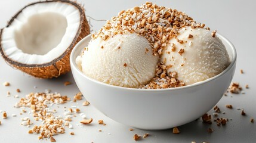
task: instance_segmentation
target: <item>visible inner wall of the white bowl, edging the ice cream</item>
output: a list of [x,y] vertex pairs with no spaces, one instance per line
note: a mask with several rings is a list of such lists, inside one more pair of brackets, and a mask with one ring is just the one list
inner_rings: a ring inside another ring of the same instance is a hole
[[235,46],[224,36],[220,35],[217,33],[218,38],[221,39],[221,41],[223,42],[223,44],[226,46],[227,52],[229,53],[229,58],[230,58],[230,65],[229,67],[227,67],[226,70],[224,70],[223,72],[221,72],[220,74],[211,77],[209,79],[206,79],[202,82],[197,82],[194,83],[192,85],[186,85],[186,86],[182,86],[182,87],[178,87],[178,88],[168,88],[168,89],[136,89],[136,88],[124,88],[124,87],[120,87],[120,86],[114,86],[114,85],[109,85],[107,83],[103,83],[103,82],[98,82],[95,79],[92,79],[91,77],[86,76],[84,73],[82,73],[82,71],[78,68],[78,66],[76,65],[76,57],[78,57],[78,55],[81,55],[82,50],[88,45],[88,43],[91,41],[91,34],[86,36],[84,39],[82,39],[80,42],[78,42],[78,44],[75,46],[75,48],[73,48],[73,51],[71,52],[70,55],[70,64],[75,67],[73,70],[76,70],[76,73],[81,74],[83,77],[92,80],[92,82],[97,82],[98,84],[103,84],[106,86],[110,86],[112,88],[121,88],[121,89],[127,89],[127,90],[137,90],[137,91],[149,91],[149,92],[154,92],[154,91],[166,91],[166,90],[180,90],[180,89],[184,89],[184,88],[191,88],[192,86],[199,86],[203,83],[209,82],[215,78],[219,78],[221,75],[223,75],[224,73],[226,73],[227,71],[229,71],[233,65],[236,63],[236,49]]

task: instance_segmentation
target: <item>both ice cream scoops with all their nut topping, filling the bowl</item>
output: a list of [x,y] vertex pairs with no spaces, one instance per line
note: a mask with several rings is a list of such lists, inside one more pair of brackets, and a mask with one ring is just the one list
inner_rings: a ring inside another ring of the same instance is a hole
[[204,27],[185,13],[146,2],[108,20],[76,63],[87,76],[110,85],[190,85],[229,66],[225,46]]

